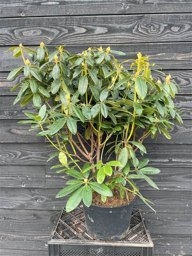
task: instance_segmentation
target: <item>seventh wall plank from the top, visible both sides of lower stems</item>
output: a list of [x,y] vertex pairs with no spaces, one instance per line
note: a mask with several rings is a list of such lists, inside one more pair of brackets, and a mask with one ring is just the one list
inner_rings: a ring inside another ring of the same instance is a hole
[[[145,144],[150,160],[150,166],[180,166],[191,165],[190,144]],[[70,149],[68,150],[71,152]],[[56,152],[52,147],[42,143],[2,143],[0,164],[2,165],[46,165],[47,159]],[[138,156],[141,159],[140,156]],[[106,158],[103,161],[107,161]],[[50,160],[48,165],[58,164],[56,158]]]

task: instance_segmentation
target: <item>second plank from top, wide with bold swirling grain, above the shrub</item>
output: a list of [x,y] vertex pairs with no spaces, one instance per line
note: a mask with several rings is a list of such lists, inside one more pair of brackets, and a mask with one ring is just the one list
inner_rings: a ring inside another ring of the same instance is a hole
[[1,19],[0,45],[189,42],[191,14]]

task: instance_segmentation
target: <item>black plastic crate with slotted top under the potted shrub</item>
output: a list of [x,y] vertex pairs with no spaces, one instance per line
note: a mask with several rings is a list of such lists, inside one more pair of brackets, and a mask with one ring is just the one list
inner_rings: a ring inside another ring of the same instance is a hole
[[152,256],[153,242],[139,209],[132,210],[127,236],[115,242],[95,240],[85,225],[83,208],[61,211],[48,241],[49,256]]

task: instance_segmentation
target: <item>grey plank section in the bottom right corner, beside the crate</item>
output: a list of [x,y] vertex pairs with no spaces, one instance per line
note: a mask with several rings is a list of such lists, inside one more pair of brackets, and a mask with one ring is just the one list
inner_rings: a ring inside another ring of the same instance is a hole
[[191,256],[191,235],[153,234],[154,256]]

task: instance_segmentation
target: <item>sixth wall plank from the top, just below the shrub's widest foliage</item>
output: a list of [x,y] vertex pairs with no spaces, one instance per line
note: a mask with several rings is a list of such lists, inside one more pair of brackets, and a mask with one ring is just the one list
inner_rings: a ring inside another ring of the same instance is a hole
[[[1,142],[14,142],[14,143],[45,143],[46,139],[43,136],[36,136],[39,130],[31,130],[30,124],[19,124],[18,120],[3,120],[0,123]],[[184,119],[183,124],[179,125],[173,121],[175,126],[170,131],[171,140],[168,140],[163,134],[159,134],[157,143],[163,144],[189,144],[192,141],[192,122],[191,120]],[[84,132],[84,130],[82,130]],[[142,133],[139,133],[142,136]],[[145,143],[155,143],[149,136]]]

